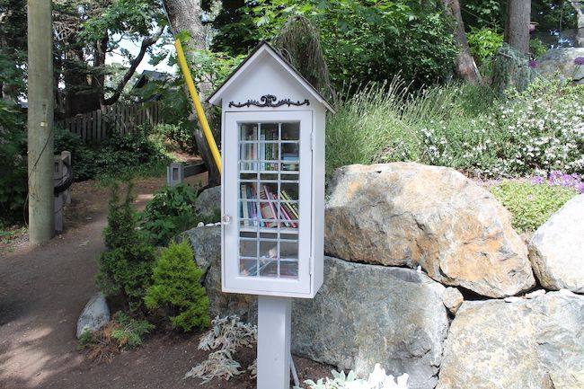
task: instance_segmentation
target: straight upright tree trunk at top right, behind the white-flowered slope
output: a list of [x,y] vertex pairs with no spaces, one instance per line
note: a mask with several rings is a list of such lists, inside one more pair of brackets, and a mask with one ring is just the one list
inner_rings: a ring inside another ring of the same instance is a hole
[[531,0],[509,0],[505,22],[505,42],[523,54],[529,53]]

